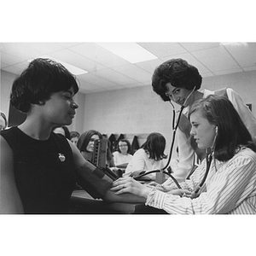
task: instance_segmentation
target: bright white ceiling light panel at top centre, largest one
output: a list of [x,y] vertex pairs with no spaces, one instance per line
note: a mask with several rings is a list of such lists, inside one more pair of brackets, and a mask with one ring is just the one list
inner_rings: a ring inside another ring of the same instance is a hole
[[157,56],[150,53],[147,49],[136,43],[97,43],[104,49],[108,49],[115,55],[129,61],[137,63],[158,59]]

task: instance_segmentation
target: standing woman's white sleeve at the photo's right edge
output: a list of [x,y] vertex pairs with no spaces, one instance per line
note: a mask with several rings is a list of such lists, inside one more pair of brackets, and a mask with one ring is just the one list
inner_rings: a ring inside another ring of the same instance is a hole
[[241,96],[239,96],[235,90],[228,88],[227,95],[230,102],[232,102],[233,106],[236,108],[236,111],[239,113],[241,120],[247,126],[251,136],[256,141],[256,119],[253,116],[252,111],[247,108],[247,105],[242,101]]

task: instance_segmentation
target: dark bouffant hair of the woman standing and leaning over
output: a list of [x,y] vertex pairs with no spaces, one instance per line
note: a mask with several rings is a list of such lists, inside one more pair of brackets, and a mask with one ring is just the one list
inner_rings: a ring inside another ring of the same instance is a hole
[[156,67],[152,76],[152,87],[165,102],[170,99],[166,96],[166,84],[171,83],[177,88],[187,90],[199,90],[201,88],[201,74],[198,69],[189,65],[183,59],[172,59],[165,61]]

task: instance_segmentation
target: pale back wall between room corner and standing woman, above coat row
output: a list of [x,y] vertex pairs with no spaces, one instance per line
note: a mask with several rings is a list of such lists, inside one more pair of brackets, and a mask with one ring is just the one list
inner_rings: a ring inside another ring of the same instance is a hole
[[171,104],[163,102],[150,85],[89,94],[84,107],[84,131],[95,129],[116,137],[122,133],[130,141],[137,135],[140,144],[154,131],[170,139]]

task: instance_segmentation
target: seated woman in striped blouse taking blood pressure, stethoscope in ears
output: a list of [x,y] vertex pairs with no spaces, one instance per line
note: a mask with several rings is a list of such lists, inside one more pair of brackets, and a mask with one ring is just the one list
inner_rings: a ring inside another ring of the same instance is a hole
[[255,214],[256,144],[232,103],[225,97],[207,96],[189,109],[191,135],[207,157],[189,180],[183,197],[171,195],[177,185],[146,186],[132,177],[115,181],[117,195],[143,196],[146,205],[172,214]]

